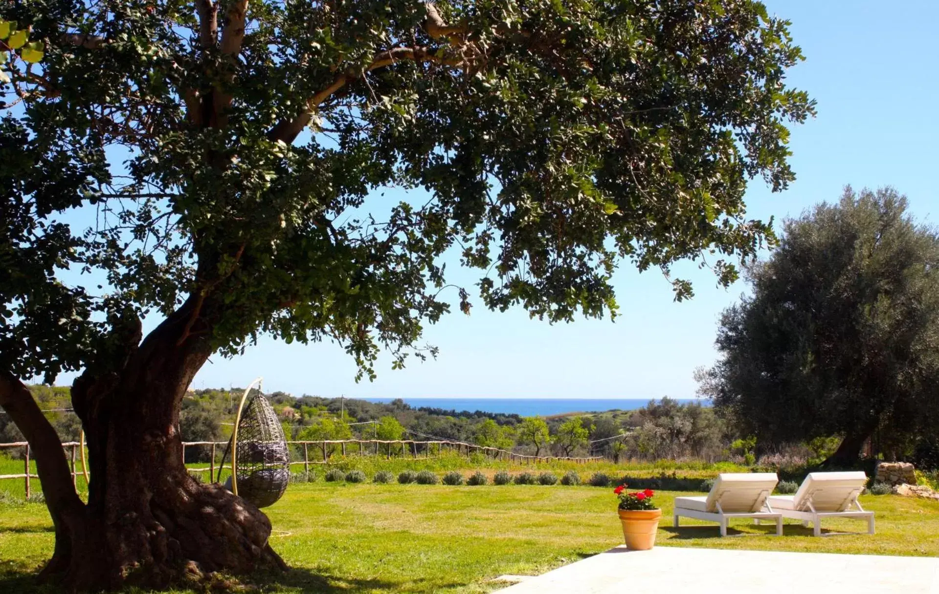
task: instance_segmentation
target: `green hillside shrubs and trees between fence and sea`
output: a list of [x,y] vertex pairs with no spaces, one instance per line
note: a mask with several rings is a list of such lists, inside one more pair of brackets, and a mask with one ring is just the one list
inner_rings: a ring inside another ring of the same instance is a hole
[[[69,412],[69,388],[30,387],[63,441],[78,440],[80,423]],[[224,441],[231,434],[243,390],[190,390],[183,399],[179,431],[185,441]],[[403,400],[388,404],[323,398],[285,392],[266,394],[290,440],[434,439],[454,440],[540,456],[606,456],[654,461],[694,458],[743,462],[746,447],[714,409],[670,398],[638,410],[609,410],[550,418],[522,418],[485,411],[412,408]],[[22,434],[0,415],[0,443]],[[737,442],[737,443],[734,443]],[[334,451],[329,452],[330,454]],[[187,462],[208,460],[208,449],[187,449]]]

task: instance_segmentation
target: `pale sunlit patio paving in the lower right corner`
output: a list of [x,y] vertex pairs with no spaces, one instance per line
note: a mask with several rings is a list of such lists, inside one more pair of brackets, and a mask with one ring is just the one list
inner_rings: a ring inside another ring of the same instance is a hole
[[939,558],[618,546],[500,591],[939,594]]

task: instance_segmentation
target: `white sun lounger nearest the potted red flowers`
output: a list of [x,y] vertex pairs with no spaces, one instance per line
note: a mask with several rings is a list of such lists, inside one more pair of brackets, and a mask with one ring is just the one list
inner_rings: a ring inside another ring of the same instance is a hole
[[718,475],[707,496],[675,497],[674,524],[678,526],[679,516],[708,520],[720,525],[720,536],[727,536],[732,518],[754,518],[757,523],[774,520],[776,534],[782,536],[782,514],[767,502],[778,480],[775,472]]

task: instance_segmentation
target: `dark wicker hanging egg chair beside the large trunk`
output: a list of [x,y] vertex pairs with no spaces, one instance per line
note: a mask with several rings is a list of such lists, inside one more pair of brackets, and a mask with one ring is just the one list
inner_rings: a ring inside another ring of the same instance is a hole
[[[245,405],[255,383],[257,393]],[[273,505],[284,495],[290,481],[290,452],[281,421],[261,393],[260,378],[254,380],[241,397],[229,449],[232,451],[232,475],[225,482],[226,489],[257,508]]]

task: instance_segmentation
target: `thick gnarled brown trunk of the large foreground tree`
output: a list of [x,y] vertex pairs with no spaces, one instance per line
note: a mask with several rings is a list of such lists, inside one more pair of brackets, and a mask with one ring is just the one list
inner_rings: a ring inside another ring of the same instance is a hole
[[72,403],[91,468],[87,504],[75,494],[52,425],[19,380],[0,376],[0,404],[35,452],[55,525],[42,577],[88,590],[285,568],[269,546],[267,516],[220,485],[192,480],[182,462],[180,403],[211,354],[207,340],[190,336],[194,307],[190,298],[143,343],[135,321],[123,348],[108,354],[116,365],[89,368],[75,380]]

